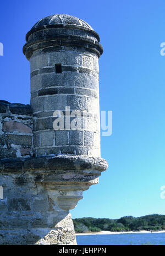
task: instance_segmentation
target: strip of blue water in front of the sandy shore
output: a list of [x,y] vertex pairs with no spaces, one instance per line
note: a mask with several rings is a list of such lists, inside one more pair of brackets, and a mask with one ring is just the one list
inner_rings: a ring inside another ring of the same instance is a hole
[[76,236],[78,245],[165,244],[165,233]]

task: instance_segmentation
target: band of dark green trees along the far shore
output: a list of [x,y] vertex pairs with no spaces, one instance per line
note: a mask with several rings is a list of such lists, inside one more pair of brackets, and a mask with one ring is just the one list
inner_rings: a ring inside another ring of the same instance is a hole
[[95,219],[86,217],[73,219],[76,233],[85,233],[89,231],[98,232],[113,231],[140,231],[140,230],[165,230],[165,215],[152,214],[142,217],[124,216],[120,219]]

